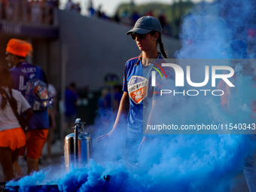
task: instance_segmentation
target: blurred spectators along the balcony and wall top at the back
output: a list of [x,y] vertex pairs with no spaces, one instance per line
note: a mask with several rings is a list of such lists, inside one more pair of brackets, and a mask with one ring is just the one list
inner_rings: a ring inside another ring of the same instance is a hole
[[[79,2],[68,0],[65,5],[67,11],[74,11],[81,14],[81,5]],[[0,0],[0,20],[11,20],[14,22],[33,23],[33,24],[53,24],[53,9],[59,8],[59,0]],[[166,15],[160,11],[154,15],[153,11],[148,11],[143,15],[157,17],[163,27],[163,34],[171,35],[169,24],[166,22]],[[111,20],[125,26],[133,26],[139,17],[143,16],[137,11],[130,14],[129,11],[123,11],[109,17],[102,11],[102,5],[98,8],[93,7],[93,1],[90,0],[87,7],[88,17],[98,17],[104,20]]]

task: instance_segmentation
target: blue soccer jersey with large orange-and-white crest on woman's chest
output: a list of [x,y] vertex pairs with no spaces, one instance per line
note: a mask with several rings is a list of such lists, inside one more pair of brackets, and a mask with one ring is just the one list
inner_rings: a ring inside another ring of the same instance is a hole
[[[162,59],[160,56],[158,58]],[[127,122],[127,136],[130,138],[143,136],[143,121],[147,123],[152,100],[157,98],[161,87],[159,84],[155,87],[151,85],[151,72],[154,68],[159,69],[160,63],[151,63],[143,67],[141,61],[136,65],[138,59],[139,56],[126,62],[123,75],[123,91],[129,94],[130,99]]]

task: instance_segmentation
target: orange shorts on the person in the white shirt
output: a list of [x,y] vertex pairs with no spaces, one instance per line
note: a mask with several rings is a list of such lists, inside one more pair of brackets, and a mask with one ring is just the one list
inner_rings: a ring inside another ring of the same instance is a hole
[[20,127],[0,131],[0,147],[11,148],[11,151],[15,151],[24,145],[26,145],[26,137]]

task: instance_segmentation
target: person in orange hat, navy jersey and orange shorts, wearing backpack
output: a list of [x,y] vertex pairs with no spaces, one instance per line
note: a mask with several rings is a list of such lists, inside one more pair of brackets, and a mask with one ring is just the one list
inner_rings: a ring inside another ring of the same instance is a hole
[[[6,47],[6,60],[8,61],[8,66],[11,67],[10,72],[14,81],[14,89],[20,90],[23,96],[31,93],[31,90],[27,90],[29,87],[29,82],[32,80],[37,80],[39,84],[47,84],[47,78],[44,71],[38,66],[34,66],[29,62],[26,62],[26,56],[32,55],[32,45],[27,41],[23,41],[16,38],[11,38],[8,41]],[[39,93],[34,93],[35,99],[39,96],[47,96],[47,89],[40,90]],[[38,89],[39,87],[35,87]],[[29,99],[29,98],[26,98]],[[32,105],[29,99],[29,104]],[[47,105],[41,108],[41,100],[37,100],[40,106],[36,105],[33,109],[33,116],[29,122],[28,131],[26,132],[26,148],[21,150],[20,155],[25,154],[27,149],[26,160],[28,165],[28,173],[33,171],[38,171],[38,161],[41,157],[41,151],[44,147],[44,143],[47,141],[47,133],[49,129],[49,117],[47,114]]]

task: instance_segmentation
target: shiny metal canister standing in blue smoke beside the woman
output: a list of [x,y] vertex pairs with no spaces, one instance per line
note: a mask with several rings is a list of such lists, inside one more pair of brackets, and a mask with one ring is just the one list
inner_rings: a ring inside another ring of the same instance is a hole
[[67,171],[70,170],[71,164],[75,167],[83,166],[93,157],[92,138],[84,132],[84,124],[80,118],[76,119],[75,126],[72,127],[75,132],[65,137],[64,156]]

